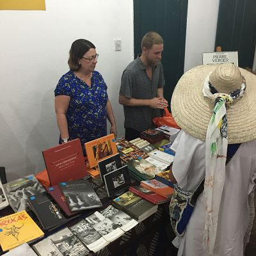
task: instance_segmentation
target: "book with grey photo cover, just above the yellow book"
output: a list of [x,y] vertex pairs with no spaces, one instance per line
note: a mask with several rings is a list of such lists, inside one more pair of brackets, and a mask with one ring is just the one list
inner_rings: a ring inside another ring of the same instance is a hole
[[3,184],[3,188],[14,212],[29,211],[29,197],[45,191],[33,174]]

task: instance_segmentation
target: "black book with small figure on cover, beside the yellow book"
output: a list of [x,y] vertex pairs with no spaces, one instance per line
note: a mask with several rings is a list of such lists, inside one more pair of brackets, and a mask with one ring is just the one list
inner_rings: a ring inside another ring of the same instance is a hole
[[56,228],[68,221],[61,212],[59,205],[46,192],[31,196],[29,205],[40,220],[44,230]]

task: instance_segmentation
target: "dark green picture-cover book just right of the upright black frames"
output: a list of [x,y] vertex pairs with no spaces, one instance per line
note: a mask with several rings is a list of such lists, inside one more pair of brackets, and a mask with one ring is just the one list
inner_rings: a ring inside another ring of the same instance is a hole
[[161,172],[159,168],[142,158],[129,161],[127,166],[129,172],[136,175],[139,180],[153,179],[157,173]]

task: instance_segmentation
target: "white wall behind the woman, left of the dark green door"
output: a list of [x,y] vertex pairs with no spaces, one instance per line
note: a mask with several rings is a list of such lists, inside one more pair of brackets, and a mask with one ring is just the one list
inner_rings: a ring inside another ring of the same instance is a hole
[[[42,150],[58,144],[54,88],[68,71],[70,45],[91,40],[108,84],[118,136],[124,113],[120,77],[133,60],[132,0],[46,0],[46,11],[0,11],[0,166],[8,180],[45,168]],[[114,50],[122,39],[122,51]]]

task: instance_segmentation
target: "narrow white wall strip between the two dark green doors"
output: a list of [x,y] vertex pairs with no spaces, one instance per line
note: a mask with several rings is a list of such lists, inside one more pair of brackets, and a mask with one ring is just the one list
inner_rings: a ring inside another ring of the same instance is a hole
[[184,72],[202,65],[202,52],[214,52],[220,0],[189,0]]

